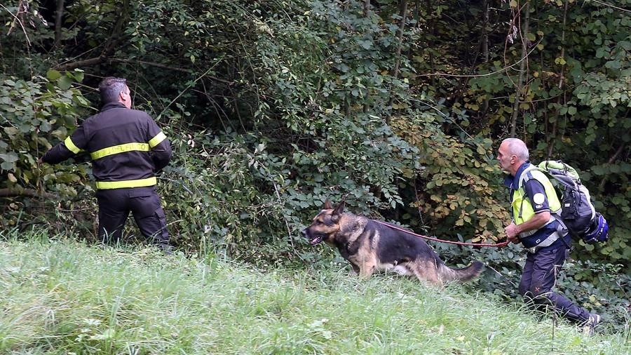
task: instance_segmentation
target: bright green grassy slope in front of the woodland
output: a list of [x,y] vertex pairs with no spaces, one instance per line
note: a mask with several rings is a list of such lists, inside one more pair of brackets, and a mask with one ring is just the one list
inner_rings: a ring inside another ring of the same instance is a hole
[[[0,241],[0,354],[629,354],[482,294],[344,270]],[[519,304],[515,304],[519,307]]]

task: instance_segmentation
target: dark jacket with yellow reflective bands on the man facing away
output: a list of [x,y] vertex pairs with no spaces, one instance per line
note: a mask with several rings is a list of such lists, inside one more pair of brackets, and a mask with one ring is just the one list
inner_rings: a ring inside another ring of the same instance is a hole
[[90,116],[72,135],[42,157],[60,163],[81,152],[93,161],[97,189],[120,189],[156,185],[158,170],[171,159],[168,139],[151,117],[110,102]]

